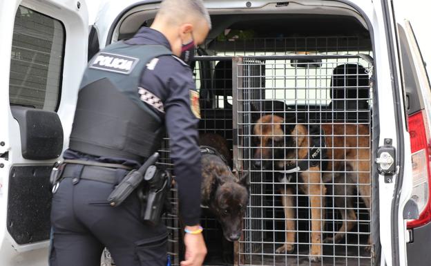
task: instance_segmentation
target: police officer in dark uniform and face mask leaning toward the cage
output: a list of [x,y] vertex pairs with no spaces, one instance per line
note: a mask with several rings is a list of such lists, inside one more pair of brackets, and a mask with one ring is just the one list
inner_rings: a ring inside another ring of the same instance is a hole
[[211,28],[202,0],[164,0],[151,28],[95,55],[84,73],[69,149],[55,185],[52,266],[100,265],[107,247],[118,266],[166,265],[166,228],[140,218],[133,192],[111,207],[108,196],[130,169],[170,137],[185,260],[202,265],[198,93],[189,67]]

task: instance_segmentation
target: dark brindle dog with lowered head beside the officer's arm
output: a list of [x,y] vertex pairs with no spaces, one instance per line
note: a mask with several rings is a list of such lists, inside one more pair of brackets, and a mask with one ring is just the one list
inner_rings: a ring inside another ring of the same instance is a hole
[[222,226],[224,238],[233,242],[240,238],[242,218],[249,200],[247,174],[238,178],[229,167],[231,155],[224,137],[206,133],[200,135],[202,153],[201,203]]

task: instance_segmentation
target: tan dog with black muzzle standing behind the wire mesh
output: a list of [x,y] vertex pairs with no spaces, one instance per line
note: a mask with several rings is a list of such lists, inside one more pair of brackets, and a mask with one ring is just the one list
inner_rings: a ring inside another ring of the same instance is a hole
[[[290,120],[289,120],[290,121]],[[325,238],[325,243],[340,242],[347,231],[354,227],[356,214],[353,211],[354,188],[357,187],[367,208],[370,208],[370,129],[357,124],[322,124],[324,132],[327,164],[309,164],[308,169],[298,173],[298,189],[309,197],[311,208],[311,247],[309,259],[320,261],[322,255],[323,217],[325,213],[326,188],[323,182],[334,182],[334,205],[340,209],[343,225],[335,236]],[[308,127],[303,124],[285,123],[277,115],[264,115],[253,128],[258,143],[253,160],[255,167],[283,171],[298,160],[309,160],[312,140]],[[323,152],[323,151],[320,151]],[[272,163],[274,162],[274,167]],[[323,171],[323,173],[322,173]],[[345,173],[341,173],[345,171]],[[336,185],[337,183],[341,185]],[[280,189],[285,212],[285,244],[277,253],[291,253],[295,243],[294,187],[283,186]],[[343,197],[344,196],[344,197]],[[345,209],[344,209],[345,208]],[[370,242],[370,239],[369,239]]]

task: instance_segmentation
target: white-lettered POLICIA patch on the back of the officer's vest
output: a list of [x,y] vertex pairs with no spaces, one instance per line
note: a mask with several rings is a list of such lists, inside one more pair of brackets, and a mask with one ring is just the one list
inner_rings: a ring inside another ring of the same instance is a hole
[[111,53],[99,53],[93,62],[91,62],[90,68],[129,75],[138,61],[139,59],[135,57],[126,57],[125,55],[115,55]]

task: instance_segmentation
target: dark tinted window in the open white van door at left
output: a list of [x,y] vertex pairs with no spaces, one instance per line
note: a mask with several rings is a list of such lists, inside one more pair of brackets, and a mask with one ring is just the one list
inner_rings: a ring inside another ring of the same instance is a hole
[[10,61],[11,105],[55,111],[61,91],[64,25],[19,6]]

